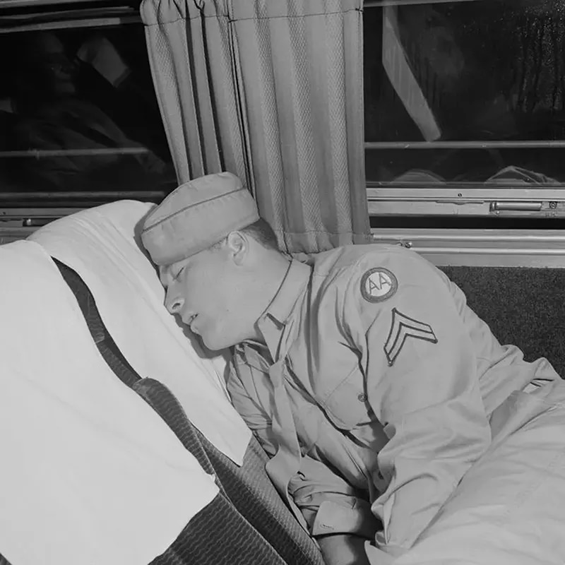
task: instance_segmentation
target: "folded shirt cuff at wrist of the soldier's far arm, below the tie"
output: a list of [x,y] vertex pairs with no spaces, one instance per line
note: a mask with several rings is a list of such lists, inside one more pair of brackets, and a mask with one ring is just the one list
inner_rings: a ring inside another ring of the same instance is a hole
[[350,506],[331,500],[323,501],[312,525],[312,536],[354,534],[374,540],[381,522],[371,512],[369,503],[352,499]]

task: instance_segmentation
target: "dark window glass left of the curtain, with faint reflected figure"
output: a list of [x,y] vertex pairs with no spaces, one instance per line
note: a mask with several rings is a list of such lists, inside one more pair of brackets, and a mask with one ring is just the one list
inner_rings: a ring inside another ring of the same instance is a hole
[[22,29],[0,35],[0,196],[174,188],[141,22]]

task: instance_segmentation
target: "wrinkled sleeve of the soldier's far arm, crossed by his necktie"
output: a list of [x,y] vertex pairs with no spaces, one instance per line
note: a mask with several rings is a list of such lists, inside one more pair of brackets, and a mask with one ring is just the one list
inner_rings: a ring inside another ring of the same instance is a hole
[[[273,457],[277,443],[271,429],[266,371],[243,359],[233,360],[227,389],[237,412]],[[320,458],[302,453],[299,471],[288,490],[313,537],[347,533],[374,539],[380,527],[369,502]]]

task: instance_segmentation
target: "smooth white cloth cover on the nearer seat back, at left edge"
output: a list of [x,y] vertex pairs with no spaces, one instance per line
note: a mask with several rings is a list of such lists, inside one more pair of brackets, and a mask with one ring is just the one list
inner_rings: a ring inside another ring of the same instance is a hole
[[107,367],[39,244],[0,246],[0,270],[2,554],[148,563],[212,501],[213,477]]

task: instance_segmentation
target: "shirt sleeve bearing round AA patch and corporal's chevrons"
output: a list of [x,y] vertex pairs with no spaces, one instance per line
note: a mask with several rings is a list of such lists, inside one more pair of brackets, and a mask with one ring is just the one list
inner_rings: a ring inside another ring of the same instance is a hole
[[[477,359],[441,274],[409,252],[364,258],[348,278],[344,331],[388,443],[374,481],[376,541],[408,549],[489,446]],[[386,487],[383,489],[383,487]]]

